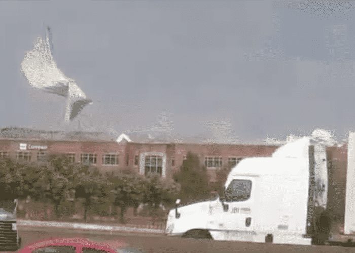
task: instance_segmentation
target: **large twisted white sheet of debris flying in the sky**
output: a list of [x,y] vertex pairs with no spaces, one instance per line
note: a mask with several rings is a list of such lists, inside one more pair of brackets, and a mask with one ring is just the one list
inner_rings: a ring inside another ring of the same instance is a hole
[[44,92],[58,94],[66,98],[65,121],[74,119],[92,101],[86,98],[75,80],[66,77],[58,69],[52,56],[52,38],[49,27],[46,37],[35,41],[33,49],[25,53],[21,69],[29,83]]

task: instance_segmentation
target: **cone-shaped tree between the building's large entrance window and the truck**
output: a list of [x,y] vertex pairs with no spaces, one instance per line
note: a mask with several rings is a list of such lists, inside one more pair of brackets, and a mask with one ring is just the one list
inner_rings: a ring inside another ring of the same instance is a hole
[[196,154],[188,152],[180,171],[174,175],[174,180],[181,185],[179,196],[183,202],[209,196],[209,177]]

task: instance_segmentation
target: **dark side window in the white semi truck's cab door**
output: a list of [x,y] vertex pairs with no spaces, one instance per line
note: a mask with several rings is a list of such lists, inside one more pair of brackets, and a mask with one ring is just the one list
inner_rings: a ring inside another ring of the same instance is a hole
[[226,202],[239,202],[248,200],[252,190],[252,181],[244,179],[234,179],[228,185],[225,192]]

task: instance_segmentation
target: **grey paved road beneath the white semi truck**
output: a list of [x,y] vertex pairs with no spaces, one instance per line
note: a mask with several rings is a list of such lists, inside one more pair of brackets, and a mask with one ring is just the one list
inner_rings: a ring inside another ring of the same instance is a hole
[[267,253],[330,253],[330,252],[354,252],[355,248],[337,246],[297,246],[297,245],[272,245],[245,242],[221,242],[201,239],[171,238],[162,235],[127,234],[110,232],[89,232],[63,229],[31,229],[19,228],[23,246],[38,240],[51,237],[86,237],[88,239],[112,240],[121,239],[133,247],[143,249],[147,253],[155,252],[267,252]]

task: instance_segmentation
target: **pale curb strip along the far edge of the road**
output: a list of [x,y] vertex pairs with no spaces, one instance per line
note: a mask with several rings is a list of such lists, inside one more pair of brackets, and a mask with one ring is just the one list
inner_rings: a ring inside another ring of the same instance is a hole
[[78,230],[96,230],[96,231],[112,231],[112,232],[131,232],[131,233],[153,233],[163,234],[162,229],[153,228],[135,228],[125,226],[109,226],[86,223],[72,223],[72,222],[51,222],[51,221],[32,221],[32,220],[17,220],[19,227],[42,227],[42,228],[67,228]]

